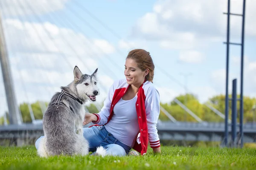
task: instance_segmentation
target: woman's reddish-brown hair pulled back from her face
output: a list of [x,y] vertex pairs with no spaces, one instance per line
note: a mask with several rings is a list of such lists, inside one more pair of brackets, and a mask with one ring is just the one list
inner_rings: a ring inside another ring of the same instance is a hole
[[145,71],[145,69],[148,68],[149,73],[146,75],[145,79],[149,82],[153,82],[154,63],[148,51],[143,49],[131,50],[126,59],[133,59],[142,71]]

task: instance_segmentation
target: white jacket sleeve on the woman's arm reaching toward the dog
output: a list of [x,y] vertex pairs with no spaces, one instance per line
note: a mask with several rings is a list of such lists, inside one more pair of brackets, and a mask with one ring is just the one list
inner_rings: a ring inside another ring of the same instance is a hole
[[93,124],[105,125],[108,122],[108,117],[110,115],[111,102],[112,102],[113,95],[115,92],[114,84],[115,84],[115,82],[109,88],[108,96],[104,100],[103,107],[102,107],[101,111],[97,114],[94,113],[97,116],[97,120],[96,120],[96,122],[92,122]]

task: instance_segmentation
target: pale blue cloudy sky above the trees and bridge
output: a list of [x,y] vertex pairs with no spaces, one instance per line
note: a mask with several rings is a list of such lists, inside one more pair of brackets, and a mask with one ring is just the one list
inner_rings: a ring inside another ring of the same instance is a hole
[[[256,6],[246,0],[244,96],[256,96]],[[231,0],[242,13],[242,0]],[[0,0],[6,48],[18,103],[43,100],[73,81],[73,68],[98,68],[101,103],[125,58],[150,52],[161,102],[195,94],[200,102],[225,94],[227,0]],[[230,42],[241,42],[241,17],[230,17]],[[240,93],[241,47],[230,45],[229,92]],[[0,115],[7,110],[0,74]],[[90,103],[88,103],[90,104]]]

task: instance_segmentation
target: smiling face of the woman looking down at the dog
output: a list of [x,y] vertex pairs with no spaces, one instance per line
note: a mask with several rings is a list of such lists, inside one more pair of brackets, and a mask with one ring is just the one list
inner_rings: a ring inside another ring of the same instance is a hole
[[125,61],[125,77],[129,85],[139,87],[143,84],[145,76],[148,74],[148,69],[142,71],[133,59],[126,59]]

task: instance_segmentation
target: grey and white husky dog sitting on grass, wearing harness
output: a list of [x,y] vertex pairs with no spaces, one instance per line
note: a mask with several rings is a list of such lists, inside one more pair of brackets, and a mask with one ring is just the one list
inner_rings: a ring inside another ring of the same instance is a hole
[[38,155],[87,155],[88,141],[83,137],[84,103],[96,101],[99,94],[97,71],[93,74],[82,74],[74,68],[74,80],[61,87],[47,107],[43,117],[44,138],[38,147]]

